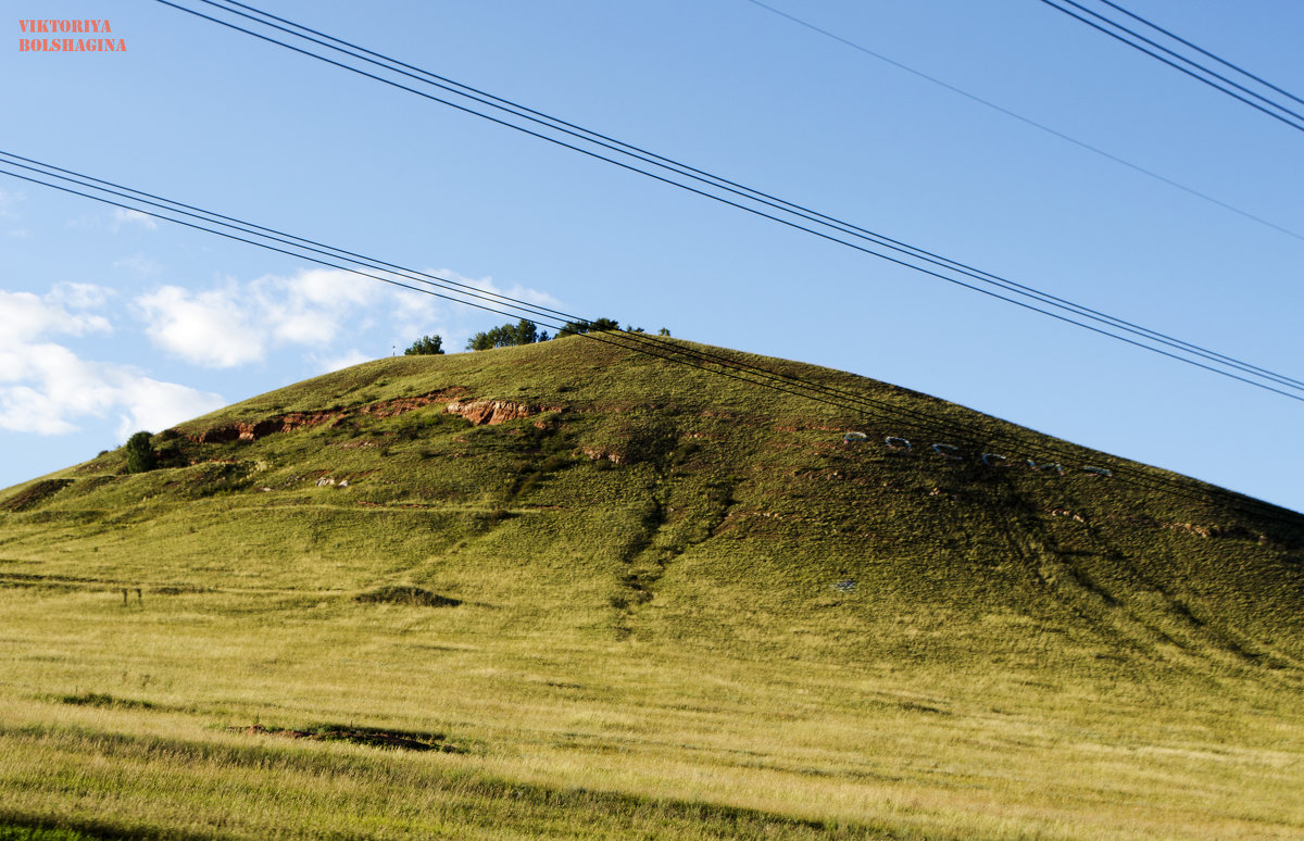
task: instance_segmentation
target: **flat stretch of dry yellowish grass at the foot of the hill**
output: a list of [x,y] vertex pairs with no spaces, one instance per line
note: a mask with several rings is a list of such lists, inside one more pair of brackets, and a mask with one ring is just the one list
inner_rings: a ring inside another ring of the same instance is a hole
[[[489,606],[309,601],[151,595],[124,608],[107,592],[0,591],[5,814],[202,837],[1304,828],[1304,721],[1270,686],[974,686],[850,658],[486,632],[502,623]],[[63,700],[91,694],[116,703]],[[227,729],[319,721],[436,730],[466,752]],[[589,793],[613,799],[595,807]]]

